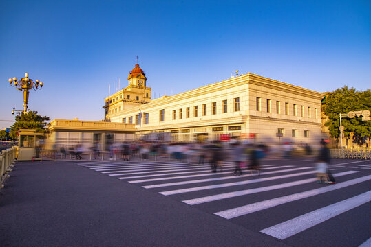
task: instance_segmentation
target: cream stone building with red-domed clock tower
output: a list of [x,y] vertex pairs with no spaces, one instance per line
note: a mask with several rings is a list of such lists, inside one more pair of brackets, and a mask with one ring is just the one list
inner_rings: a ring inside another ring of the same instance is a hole
[[135,124],[136,135],[171,134],[173,141],[223,134],[264,142],[318,143],[324,94],[247,73],[173,96],[151,100],[136,64],[129,85],[105,99],[105,119]]

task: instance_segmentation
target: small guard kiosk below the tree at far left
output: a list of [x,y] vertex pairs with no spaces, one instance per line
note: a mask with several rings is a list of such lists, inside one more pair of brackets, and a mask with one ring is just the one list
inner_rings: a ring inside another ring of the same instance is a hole
[[40,145],[44,134],[27,129],[21,129],[17,134],[19,136],[17,161],[40,161]]

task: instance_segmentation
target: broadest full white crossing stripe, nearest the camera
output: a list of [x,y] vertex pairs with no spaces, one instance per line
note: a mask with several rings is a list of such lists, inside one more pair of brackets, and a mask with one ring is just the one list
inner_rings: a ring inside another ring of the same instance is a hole
[[371,201],[371,191],[362,193],[361,195],[354,196],[352,198],[331,204],[327,207],[317,209],[310,213],[306,213],[299,217],[295,217],[292,220],[282,222],[275,226],[271,226],[260,231],[267,235],[271,235],[277,239],[286,239],[297,233],[316,226],[326,220],[331,219],[341,213],[354,209],[367,202]]

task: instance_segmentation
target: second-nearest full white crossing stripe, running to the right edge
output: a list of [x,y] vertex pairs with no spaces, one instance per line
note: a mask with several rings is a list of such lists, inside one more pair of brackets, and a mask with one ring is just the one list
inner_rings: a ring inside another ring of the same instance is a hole
[[287,202],[293,202],[295,200],[301,200],[303,198],[308,198],[310,196],[317,196],[321,193],[326,193],[329,191],[334,191],[336,189],[341,189],[344,187],[348,187],[350,185],[356,185],[357,183],[362,183],[365,181],[371,180],[371,175],[363,176],[361,178],[355,178],[352,180],[348,180],[343,183],[337,183],[335,185],[321,187],[319,189],[312,189],[310,191],[304,191],[301,193],[295,193],[288,196],[282,196],[279,198],[274,198],[270,200],[264,200],[262,202],[256,202],[253,204],[248,204],[242,207],[236,207],[234,209],[228,209],[224,211],[220,211],[215,213],[215,215],[219,215],[220,217],[224,217],[226,219],[233,219],[234,217],[240,217],[242,215],[247,215],[249,213],[255,213],[257,211],[261,211],[264,209],[269,209],[271,207],[275,207],[281,204],[285,204]]

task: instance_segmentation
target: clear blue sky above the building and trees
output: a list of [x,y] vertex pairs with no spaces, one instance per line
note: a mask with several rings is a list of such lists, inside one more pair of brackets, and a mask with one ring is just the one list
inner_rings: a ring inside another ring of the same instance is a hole
[[[136,56],[152,97],[255,73],[315,91],[370,88],[370,1],[0,1],[0,119],[98,121]],[[12,123],[0,121],[0,128]]]

